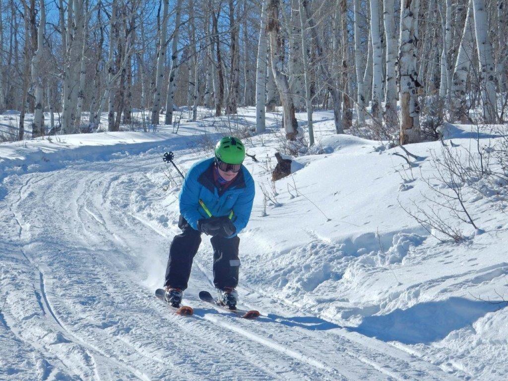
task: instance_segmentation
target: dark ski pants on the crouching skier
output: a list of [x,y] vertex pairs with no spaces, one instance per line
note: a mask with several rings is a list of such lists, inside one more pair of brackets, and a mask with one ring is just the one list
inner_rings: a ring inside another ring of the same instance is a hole
[[[175,236],[171,242],[164,285],[185,290],[194,257],[201,244],[201,233],[193,229],[181,215],[178,227],[182,233]],[[240,238],[215,236],[210,238],[210,242],[213,247],[213,284],[217,289],[236,287],[240,266],[238,259]]]

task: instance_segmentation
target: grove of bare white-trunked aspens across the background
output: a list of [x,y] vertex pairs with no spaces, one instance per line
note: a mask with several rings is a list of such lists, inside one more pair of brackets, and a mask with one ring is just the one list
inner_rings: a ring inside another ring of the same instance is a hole
[[[32,136],[108,131],[174,107],[215,116],[280,106],[333,110],[400,144],[436,139],[436,120],[502,123],[508,108],[503,0],[0,0],[0,113],[34,114]],[[48,117],[49,115],[49,117]],[[164,118],[164,120],[161,120]]]

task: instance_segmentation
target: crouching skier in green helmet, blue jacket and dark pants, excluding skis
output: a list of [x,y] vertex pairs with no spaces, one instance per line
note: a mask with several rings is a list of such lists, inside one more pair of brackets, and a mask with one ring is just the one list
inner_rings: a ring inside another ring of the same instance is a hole
[[179,197],[182,233],[173,238],[166,268],[166,300],[178,307],[187,288],[201,233],[213,247],[213,284],[217,301],[236,308],[238,294],[238,233],[252,210],[254,180],[242,165],[245,147],[238,138],[224,137],[215,146],[215,157],[193,165],[185,176]]

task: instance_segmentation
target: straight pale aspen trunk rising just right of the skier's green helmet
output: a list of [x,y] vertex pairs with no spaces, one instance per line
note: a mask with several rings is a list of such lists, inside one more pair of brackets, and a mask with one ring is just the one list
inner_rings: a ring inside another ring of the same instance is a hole
[[261,25],[259,32],[258,62],[256,69],[256,133],[266,130],[266,57],[268,41],[266,36],[268,1],[263,0],[261,8]]

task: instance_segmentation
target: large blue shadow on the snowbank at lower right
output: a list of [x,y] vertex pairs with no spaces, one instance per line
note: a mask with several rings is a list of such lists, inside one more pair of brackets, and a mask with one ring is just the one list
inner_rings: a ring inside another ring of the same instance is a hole
[[505,306],[506,303],[450,298],[420,303],[405,310],[396,309],[387,315],[365,317],[358,327],[347,328],[383,341],[428,344]]

